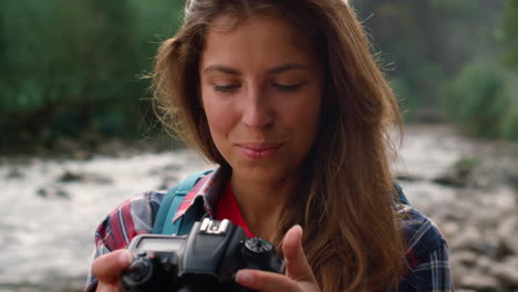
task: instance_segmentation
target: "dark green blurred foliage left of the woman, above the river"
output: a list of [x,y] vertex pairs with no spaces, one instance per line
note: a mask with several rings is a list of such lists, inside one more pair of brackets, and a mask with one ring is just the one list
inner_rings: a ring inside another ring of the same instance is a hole
[[149,85],[138,75],[151,67],[156,34],[178,25],[180,4],[0,1],[0,149],[137,135]]

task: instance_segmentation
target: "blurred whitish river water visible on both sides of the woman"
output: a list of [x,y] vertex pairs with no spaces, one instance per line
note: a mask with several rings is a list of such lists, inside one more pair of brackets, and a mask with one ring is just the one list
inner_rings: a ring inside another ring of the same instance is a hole
[[[436,202],[456,189],[432,181],[476,144],[447,127],[410,126],[395,171],[412,205],[433,219]],[[210,168],[189,150],[143,153],[89,160],[0,158],[0,292],[80,291],[89,270],[93,231],[132,195],[173,185]],[[497,204],[516,204],[504,191]]]

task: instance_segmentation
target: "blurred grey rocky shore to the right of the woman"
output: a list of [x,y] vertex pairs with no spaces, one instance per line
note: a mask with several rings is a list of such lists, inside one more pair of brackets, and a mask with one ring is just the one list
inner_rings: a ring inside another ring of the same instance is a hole
[[398,176],[411,204],[448,240],[457,291],[518,291],[518,144],[462,138],[447,128],[407,134],[408,144],[427,140],[423,156],[437,147],[453,152],[438,173],[400,168]]

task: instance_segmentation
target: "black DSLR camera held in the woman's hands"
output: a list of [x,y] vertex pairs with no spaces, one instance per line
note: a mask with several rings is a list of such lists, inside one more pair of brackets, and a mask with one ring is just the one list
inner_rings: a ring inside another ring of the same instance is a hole
[[186,237],[138,236],[128,249],[134,260],[121,277],[125,292],[249,291],[234,281],[238,270],[284,268],[270,242],[248,238],[229,220],[195,222]]

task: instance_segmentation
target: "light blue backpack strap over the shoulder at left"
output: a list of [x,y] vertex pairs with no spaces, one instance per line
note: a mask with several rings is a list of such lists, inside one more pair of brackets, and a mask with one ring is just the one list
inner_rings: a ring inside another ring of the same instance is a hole
[[[211,170],[199,171],[189,175],[180,184],[169,188],[165,195],[158,212],[156,213],[155,222],[153,225],[152,233],[155,234],[178,234],[184,218],[180,218],[173,222],[173,218],[176,215],[176,210],[180,206],[190,189],[198,182],[198,180],[209,174]],[[196,220],[196,218],[189,218],[189,220]],[[194,222],[193,222],[194,223]]]

